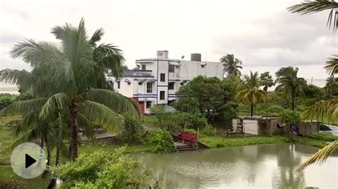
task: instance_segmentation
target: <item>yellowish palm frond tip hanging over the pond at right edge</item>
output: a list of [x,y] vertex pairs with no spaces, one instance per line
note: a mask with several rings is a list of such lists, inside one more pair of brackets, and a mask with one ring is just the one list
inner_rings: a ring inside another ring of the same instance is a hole
[[299,165],[297,170],[298,171],[304,170],[304,168],[307,168],[309,165],[312,165],[314,163],[319,163],[319,164],[324,163],[327,160],[327,158],[329,158],[329,155],[337,148],[338,148],[338,140],[318,150],[317,153],[314,153],[314,155],[312,155],[309,159],[304,161],[304,163]]

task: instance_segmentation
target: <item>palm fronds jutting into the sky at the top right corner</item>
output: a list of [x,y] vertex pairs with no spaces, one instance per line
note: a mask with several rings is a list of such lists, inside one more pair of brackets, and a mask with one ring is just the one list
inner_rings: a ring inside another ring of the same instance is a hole
[[333,0],[313,0],[305,1],[301,4],[296,4],[287,8],[288,11],[292,13],[299,14],[313,14],[320,11],[331,10],[329,12],[329,17],[327,18],[327,26],[329,29],[333,24],[333,30],[337,31],[338,28],[338,3]]

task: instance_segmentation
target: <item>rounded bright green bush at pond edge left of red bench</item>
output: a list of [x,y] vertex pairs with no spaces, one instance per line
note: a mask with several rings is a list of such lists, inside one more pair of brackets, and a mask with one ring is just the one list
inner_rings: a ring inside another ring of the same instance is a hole
[[168,131],[156,129],[150,134],[148,144],[153,153],[172,153],[175,151],[173,137]]

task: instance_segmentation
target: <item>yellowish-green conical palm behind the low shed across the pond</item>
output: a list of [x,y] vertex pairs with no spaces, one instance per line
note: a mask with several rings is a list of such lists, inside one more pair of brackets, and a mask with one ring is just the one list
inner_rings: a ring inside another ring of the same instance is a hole
[[256,103],[267,100],[267,93],[260,89],[260,78],[258,73],[252,73],[250,76],[245,75],[242,90],[235,96],[236,101],[250,104],[250,115],[253,116],[253,108]]

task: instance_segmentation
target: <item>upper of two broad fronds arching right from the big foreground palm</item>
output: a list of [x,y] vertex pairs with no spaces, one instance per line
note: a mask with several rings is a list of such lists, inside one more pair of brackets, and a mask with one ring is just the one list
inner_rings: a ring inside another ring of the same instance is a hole
[[140,111],[138,104],[132,101],[130,98],[116,93],[115,91],[105,89],[93,89],[88,91],[86,98],[91,101],[96,101],[105,106],[108,106],[116,113],[130,116],[133,118],[139,118]]

